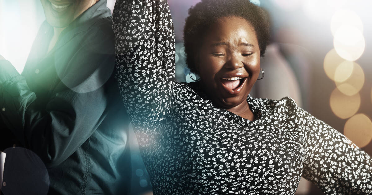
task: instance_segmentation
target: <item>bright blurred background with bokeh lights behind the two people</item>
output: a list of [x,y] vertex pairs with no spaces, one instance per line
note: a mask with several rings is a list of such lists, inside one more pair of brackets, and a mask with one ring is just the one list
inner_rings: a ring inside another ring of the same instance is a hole
[[[369,0],[251,0],[267,11],[272,43],[261,59],[264,79],[251,95],[290,96],[312,115],[372,155],[372,16]],[[182,29],[199,0],[168,0],[176,32],[176,80],[191,82]],[[108,0],[113,9],[115,0]],[[22,72],[33,39],[45,20],[39,0],[0,0],[0,54]],[[193,75],[196,78],[197,75]],[[132,194],[151,194],[131,130]],[[323,194],[301,179],[298,195]]]

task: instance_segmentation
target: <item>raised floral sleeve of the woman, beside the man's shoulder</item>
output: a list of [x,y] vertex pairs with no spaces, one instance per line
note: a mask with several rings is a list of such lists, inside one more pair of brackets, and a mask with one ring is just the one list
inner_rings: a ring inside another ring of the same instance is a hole
[[159,127],[171,106],[174,32],[166,0],[118,0],[116,80],[135,129]]

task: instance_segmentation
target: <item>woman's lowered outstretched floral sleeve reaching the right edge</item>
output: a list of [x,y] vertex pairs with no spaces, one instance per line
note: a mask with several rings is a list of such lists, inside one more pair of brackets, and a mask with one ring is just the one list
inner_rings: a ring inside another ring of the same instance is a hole
[[307,121],[302,176],[327,195],[372,194],[372,159],[339,131],[299,108]]

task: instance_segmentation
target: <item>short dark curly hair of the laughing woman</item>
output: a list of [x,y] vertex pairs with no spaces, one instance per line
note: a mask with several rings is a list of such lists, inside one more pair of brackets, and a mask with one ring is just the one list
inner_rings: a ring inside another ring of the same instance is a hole
[[246,19],[254,28],[263,56],[270,41],[270,25],[266,12],[249,0],[202,0],[189,9],[183,29],[186,63],[197,73],[195,56],[202,45],[205,32],[221,17],[237,16]]

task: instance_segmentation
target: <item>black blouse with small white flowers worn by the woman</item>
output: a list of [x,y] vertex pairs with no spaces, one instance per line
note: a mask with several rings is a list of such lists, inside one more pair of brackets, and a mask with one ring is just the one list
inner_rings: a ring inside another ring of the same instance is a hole
[[161,0],[117,0],[116,79],[154,194],[372,194],[372,160],[291,98],[248,96],[256,120],[174,81],[174,32]]

